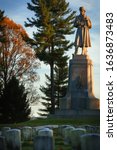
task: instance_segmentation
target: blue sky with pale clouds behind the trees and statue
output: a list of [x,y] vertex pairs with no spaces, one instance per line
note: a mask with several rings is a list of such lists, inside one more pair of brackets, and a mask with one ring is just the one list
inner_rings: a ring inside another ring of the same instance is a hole
[[[0,0],[0,9],[5,11],[5,15],[16,23],[21,24],[24,27],[24,21],[26,18],[33,16],[33,12],[27,9],[27,2],[31,0]],[[84,6],[86,8],[87,16],[90,16],[92,20],[92,29],[90,30],[92,47],[88,49],[90,58],[94,63],[94,89],[95,96],[100,97],[100,1],[99,0],[66,0],[69,2],[69,7],[77,11],[79,14],[79,7]],[[25,27],[24,27],[25,28]],[[25,28],[29,36],[32,37],[35,28]],[[68,37],[71,41],[74,41],[75,34]],[[72,48],[68,55],[71,57],[74,53]],[[44,74],[49,72],[48,66],[43,63],[41,69],[39,69],[39,75],[41,80],[39,84],[44,84]]]

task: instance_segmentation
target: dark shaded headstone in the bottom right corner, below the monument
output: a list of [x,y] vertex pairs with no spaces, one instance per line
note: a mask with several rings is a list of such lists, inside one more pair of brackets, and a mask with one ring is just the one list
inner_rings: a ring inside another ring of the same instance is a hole
[[81,150],[100,150],[100,135],[99,134],[82,135]]

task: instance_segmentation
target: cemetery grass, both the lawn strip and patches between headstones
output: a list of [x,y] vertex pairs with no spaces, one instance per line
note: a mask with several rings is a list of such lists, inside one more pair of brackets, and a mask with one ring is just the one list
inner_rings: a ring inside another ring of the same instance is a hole
[[[11,127],[11,128],[21,128],[24,126],[36,127],[44,125],[71,125],[71,126],[80,126],[80,125],[92,125],[100,126],[99,118],[80,118],[80,119],[65,119],[65,118],[38,118],[35,120],[29,120],[26,122],[21,122],[17,124],[0,124],[0,129],[2,127]],[[64,138],[58,133],[58,129],[53,129],[54,133],[54,142],[55,150],[71,150],[71,145],[64,144]],[[32,150],[33,149],[33,140],[22,142],[22,150]]]

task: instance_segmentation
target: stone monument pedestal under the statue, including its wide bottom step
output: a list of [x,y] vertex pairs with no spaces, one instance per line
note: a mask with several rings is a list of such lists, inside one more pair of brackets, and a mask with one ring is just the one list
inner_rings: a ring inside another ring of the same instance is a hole
[[67,94],[60,100],[55,116],[61,118],[99,117],[99,99],[94,95],[93,63],[88,55],[75,55],[69,64]]

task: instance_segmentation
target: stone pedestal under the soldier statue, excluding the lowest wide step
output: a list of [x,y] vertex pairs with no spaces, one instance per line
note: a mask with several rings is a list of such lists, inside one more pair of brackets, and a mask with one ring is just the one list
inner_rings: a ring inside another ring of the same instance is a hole
[[60,109],[99,109],[99,99],[94,96],[93,63],[88,55],[75,55],[70,60],[68,91],[60,100]]

